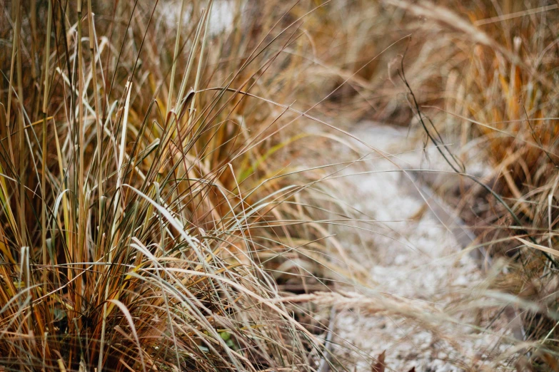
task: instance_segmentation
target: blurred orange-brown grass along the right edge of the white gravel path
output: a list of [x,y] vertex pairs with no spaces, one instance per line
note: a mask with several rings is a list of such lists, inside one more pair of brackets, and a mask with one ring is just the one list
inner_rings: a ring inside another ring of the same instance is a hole
[[525,339],[535,341],[518,368],[557,368],[557,4],[381,4],[412,33],[403,63],[416,120],[432,142],[450,144],[441,153],[455,170],[482,162],[489,171],[437,186],[490,256],[508,259],[493,289],[513,295]]

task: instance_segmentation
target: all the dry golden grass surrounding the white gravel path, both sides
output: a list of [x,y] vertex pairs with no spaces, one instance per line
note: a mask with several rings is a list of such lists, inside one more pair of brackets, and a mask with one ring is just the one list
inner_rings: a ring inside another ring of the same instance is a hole
[[324,156],[346,145],[321,120],[335,115],[423,118],[455,165],[481,149],[483,185],[447,177],[441,194],[507,259],[492,283],[512,296],[460,305],[513,304],[533,341],[518,368],[557,368],[553,6],[2,3],[0,364],[322,370],[336,363],[317,305],[454,321],[387,296],[311,294],[363,274],[332,237],[351,208],[322,182],[354,160]]

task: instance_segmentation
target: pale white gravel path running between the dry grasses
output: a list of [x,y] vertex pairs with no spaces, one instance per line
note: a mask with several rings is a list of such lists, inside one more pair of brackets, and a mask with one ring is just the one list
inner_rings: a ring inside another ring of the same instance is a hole
[[[353,135],[390,160],[368,150],[369,160],[348,170],[341,181],[347,187],[342,190],[355,190],[347,195],[348,203],[376,220],[368,225],[373,231],[362,234],[352,252],[368,271],[371,284],[348,290],[413,299],[435,306],[448,319],[368,314],[340,306],[334,324],[338,363],[349,371],[371,371],[373,358],[386,351],[387,371],[506,368],[509,320],[498,313],[498,307],[474,305],[485,301],[481,293],[488,285],[486,274],[460,247],[448,220],[430,212],[425,200],[413,192],[421,187],[420,182],[412,182],[418,172],[398,171],[422,168],[440,173],[448,166],[436,149],[428,150],[426,157],[423,143],[414,141],[405,128],[363,123]],[[448,177],[456,176],[449,173]]]

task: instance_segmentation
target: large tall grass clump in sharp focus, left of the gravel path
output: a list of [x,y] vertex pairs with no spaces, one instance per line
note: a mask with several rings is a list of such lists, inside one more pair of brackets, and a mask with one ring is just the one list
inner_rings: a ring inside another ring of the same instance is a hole
[[[211,9],[231,26],[213,29]],[[301,274],[280,265],[308,260],[296,247],[321,234],[301,227],[311,178],[283,177],[301,171],[287,159],[308,135],[275,103],[297,77],[281,52],[298,45],[305,11],[91,0],[1,10],[0,364],[310,369],[321,341],[276,284]]]

